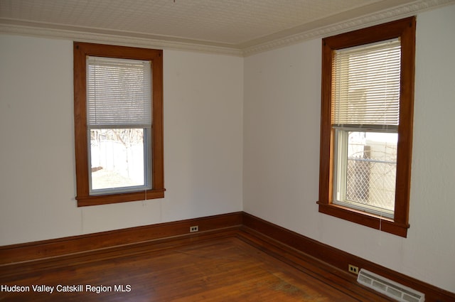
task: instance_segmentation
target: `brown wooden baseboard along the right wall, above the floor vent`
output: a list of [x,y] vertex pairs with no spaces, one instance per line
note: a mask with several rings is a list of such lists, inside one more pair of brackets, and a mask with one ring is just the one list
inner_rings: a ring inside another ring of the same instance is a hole
[[[341,249],[328,246],[314,239],[310,239],[291,230],[287,230],[279,225],[274,225],[253,215],[243,213],[242,229],[244,232],[250,232],[269,237],[272,241],[277,241],[285,244],[293,249],[298,250],[304,254],[323,261],[326,264],[331,264],[342,271],[348,271],[348,264],[358,266],[359,269],[367,269],[376,274],[384,276],[387,279],[396,281],[416,291],[425,294],[425,301],[441,302],[441,301],[455,301],[455,293],[445,291],[444,289],[437,288],[431,284],[424,283],[410,276],[400,274],[392,269],[387,269],[371,261],[356,257],[353,254],[343,252]],[[355,276],[355,275],[354,275]]]

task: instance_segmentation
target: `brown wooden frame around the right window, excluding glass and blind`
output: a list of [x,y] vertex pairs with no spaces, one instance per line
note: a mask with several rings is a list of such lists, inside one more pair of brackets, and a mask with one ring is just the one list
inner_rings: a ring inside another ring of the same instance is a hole
[[[412,120],[414,111],[415,17],[392,21],[358,31],[323,38],[321,91],[321,149],[319,172],[319,212],[375,229],[407,236],[410,207],[412,156]],[[333,183],[336,163],[335,138],[332,124],[334,76],[333,58],[337,50],[370,43],[398,39],[401,46],[399,122],[397,125],[395,205],[391,217],[334,203]]]

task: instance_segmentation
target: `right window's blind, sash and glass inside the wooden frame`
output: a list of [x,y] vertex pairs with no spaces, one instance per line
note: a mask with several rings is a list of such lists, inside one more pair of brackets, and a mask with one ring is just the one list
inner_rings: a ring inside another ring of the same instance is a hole
[[333,203],[393,217],[400,117],[398,38],[335,50]]

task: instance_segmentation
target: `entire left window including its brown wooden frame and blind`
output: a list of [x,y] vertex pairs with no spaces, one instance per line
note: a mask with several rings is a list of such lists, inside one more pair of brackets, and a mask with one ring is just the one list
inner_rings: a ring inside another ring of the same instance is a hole
[[77,204],[164,197],[162,50],[74,43]]

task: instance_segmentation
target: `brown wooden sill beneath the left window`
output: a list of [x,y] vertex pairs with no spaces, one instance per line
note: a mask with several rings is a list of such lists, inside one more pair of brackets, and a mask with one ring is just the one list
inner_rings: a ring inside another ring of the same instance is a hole
[[128,201],[149,200],[164,198],[166,189],[146,190],[129,193],[115,193],[109,195],[77,196],[77,207],[89,205],[107,205],[109,203],[125,203]]

